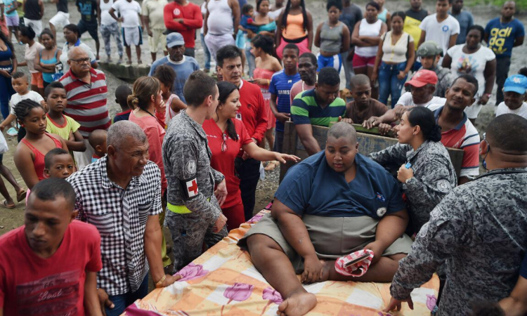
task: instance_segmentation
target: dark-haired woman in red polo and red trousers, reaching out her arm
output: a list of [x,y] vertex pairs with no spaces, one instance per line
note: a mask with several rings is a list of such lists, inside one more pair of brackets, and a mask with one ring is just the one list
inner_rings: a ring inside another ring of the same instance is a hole
[[242,196],[240,194],[240,179],[236,176],[234,160],[240,150],[245,150],[249,156],[261,161],[286,160],[298,162],[299,157],[290,154],[270,152],[258,147],[249,136],[242,121],[235,119],[240,109],[240,92],[228,81],[220,81],[219,105],[212,119],[203,122],[203,129],[207,133],[209,147],[212,152],[211,166],[223,173],[227,184],[227,198],[221,210],[227,217],[227,228],[232,230],[245,223]]

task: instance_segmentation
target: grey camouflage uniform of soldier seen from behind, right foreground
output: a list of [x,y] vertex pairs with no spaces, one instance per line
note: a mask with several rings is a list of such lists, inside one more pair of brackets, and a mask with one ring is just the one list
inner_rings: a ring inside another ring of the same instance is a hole
[[469,315],[475,301],[508,296],[527,248],[526,187],[527,168],[496,169],[455,187],[399,261],[391,296],[409,298],[444,262],[438,315]]

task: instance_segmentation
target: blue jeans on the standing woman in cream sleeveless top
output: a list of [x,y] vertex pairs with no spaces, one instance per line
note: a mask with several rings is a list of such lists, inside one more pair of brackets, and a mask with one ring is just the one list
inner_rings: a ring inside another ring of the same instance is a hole
[[406,62],[394,65],[381,62],[381,67],[379,68],[379,102],[387,104],[388,96],[391,94],[391,107],[396,105],[399,98],[401,98],[401,90],[408,75],[403,79],[398,79],[397,76],[405,68]]

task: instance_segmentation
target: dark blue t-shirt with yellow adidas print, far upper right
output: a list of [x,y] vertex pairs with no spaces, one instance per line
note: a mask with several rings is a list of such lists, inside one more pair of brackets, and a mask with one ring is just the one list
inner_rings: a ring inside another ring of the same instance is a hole
[[485,34],[488,34],[488,48],[493,50],[496,58],[510,57],[514,39],[524,37],[525,28],[518,19],[503,24],[500,18],[495,18],[487,23]]

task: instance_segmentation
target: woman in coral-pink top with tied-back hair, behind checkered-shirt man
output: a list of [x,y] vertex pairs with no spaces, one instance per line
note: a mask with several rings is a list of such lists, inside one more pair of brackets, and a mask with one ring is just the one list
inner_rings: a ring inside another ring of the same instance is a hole
[[[161,170],[161,195],[163,212],[160,213],[160,224],[164,223],[164,209],[167,205],[166,191],[167,178],[164,176],[163,156],[161,147],[164,138],[164,105],[161,92],[160,81],[154,77],[140,77],[134,82],[132,94],[128,96],[128,106],[132,110],[129,121],[133,121],[145,132],[148,138],[149,160],[155,162]],[[162,240],[161,256],[163,265],[170,265],[170,258],[167,256],[167,244]]]

